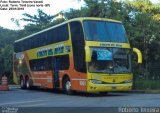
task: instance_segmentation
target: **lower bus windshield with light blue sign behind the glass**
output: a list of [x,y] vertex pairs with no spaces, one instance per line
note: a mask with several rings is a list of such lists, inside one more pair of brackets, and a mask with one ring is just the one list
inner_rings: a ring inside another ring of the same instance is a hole
[[92,57],[89,72],[124,74],[131,73],[131,57],[129,49],[91,48]]

